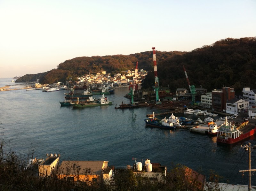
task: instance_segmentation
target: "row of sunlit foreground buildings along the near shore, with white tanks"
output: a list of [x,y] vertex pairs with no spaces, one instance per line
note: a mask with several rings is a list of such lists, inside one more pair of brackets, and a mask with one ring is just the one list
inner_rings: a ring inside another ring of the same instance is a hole
[[[38,172],[40,177],[57,177],[63,181],[86,182],[93,183],[102,181],[105,184],[115,183],[115,174],[122,173],[124,170],[131,170],[136,176],[150,181],[164,182],[166,181],[167,167],[161,166],[160,163],[151,163],[149,159],[145,160],[145,164],[137,162],[133,166],[108,166],[108,161],[65,161],[60,164],[60,154],[46,154],[47,158],[33,159],[29,168]],[[203,188],[205,184],[205,176],[184,166],[185,175],[188,180],[196,180],[199,182],[199,188]]]

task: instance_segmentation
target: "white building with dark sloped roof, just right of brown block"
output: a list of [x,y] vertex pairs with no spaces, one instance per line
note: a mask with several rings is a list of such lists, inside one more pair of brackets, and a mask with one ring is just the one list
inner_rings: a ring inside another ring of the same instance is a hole
[[226,113],[229,114],[237,114],[241,111],[246,111],[249,106],[249,102],[243,99],[234,98],[228,100],[226,103]]

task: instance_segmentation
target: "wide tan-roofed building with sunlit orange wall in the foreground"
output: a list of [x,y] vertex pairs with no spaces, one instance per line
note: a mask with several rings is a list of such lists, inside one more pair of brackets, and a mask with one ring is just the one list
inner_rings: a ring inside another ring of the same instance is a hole
[[108,161],[62,161],[59,179],[73,181],[111,181],[112,169],[108,167]]

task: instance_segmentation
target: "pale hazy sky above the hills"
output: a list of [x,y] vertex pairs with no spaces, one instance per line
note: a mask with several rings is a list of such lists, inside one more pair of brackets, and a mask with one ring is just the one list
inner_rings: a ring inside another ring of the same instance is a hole
[[0,78],[82,56],[191,51],[254,37],[255,23],[255,0],[0,0]]

